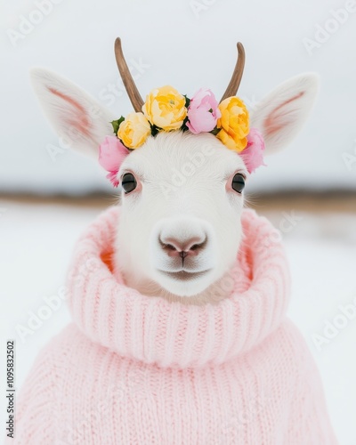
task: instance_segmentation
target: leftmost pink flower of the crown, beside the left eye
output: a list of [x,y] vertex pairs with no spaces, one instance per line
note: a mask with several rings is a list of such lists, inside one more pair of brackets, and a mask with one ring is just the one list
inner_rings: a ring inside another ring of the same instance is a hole
[[125,157],[130,153],[116,136],[105,136],[99,147],[99,164],[109,172],[107,178],[117,187],[117,172]]

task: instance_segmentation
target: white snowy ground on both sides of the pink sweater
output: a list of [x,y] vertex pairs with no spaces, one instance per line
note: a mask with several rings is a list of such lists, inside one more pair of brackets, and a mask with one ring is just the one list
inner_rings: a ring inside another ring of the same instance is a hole
[[[45,304],[44,298],[56,295],[64,285],[72,247],[100,211],[98,206],[0,200],[0,366],[4,369],[4,339],[15,338],[18,389],[40,348],[69,322],[69,312],[63,303],[42,326],[22,340],[16,327],[28,327],[33,313],[37,314]],[[356,212],[298,211],[294,219],[291,212],[260,213],[267,214],[283,232],[294,281],[289,315],[303,332],[320,368],[340,444],[355,445]],[[343,311],[347,309],[345,317]],[[337,328],[332,332],[329,327],[324,333],[328,323],[336,324]],[[2,371],[2,431],[3,376]]]

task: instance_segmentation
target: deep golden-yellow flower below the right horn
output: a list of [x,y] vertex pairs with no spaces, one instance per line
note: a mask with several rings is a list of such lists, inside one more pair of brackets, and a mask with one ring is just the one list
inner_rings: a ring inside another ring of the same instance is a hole
[[219,105],[222,117],[217,126],[222,128],[216,137],[230,150],[241,152],[247,146],[249,133],[248,111],[239,97],[228,97]]

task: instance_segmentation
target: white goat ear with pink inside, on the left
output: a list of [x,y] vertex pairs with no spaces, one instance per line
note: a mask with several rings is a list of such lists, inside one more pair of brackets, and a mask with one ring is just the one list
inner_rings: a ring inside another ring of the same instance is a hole
[[38,99],[54,130],[73,149],[98,156],[104,137],[112,134],[111,112],[65,77],[47,69],[31,69]]

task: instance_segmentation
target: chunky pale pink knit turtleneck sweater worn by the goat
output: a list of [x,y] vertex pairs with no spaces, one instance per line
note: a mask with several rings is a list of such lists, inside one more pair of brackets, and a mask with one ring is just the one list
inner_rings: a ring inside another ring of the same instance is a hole
[[320,376],[286,318],[289,276],[271,224],[243,214],[231,295],[168,303],[114,278],[118,209],[77,244],[73,323],[44,348],[20,393],[26,445],[331,445]]

